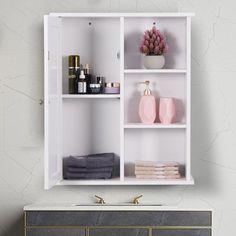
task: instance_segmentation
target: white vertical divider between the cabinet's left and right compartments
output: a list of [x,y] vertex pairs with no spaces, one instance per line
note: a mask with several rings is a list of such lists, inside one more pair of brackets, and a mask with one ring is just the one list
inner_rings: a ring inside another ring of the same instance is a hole
[[120,180],[124,181],[124,17],[120,17]]

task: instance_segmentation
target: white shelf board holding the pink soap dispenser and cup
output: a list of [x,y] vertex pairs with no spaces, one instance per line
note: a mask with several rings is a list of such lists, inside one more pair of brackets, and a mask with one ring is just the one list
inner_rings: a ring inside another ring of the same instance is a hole
[[143,123],[128,123],[124,125],[125,129],[185,129],[186,124],[173,123],[169,125],[154,123],[154,124],[143,124]]

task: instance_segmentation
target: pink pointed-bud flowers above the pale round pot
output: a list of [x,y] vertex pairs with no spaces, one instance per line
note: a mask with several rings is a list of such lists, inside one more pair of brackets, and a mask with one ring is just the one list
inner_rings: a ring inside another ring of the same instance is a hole
[[155,23],[152,29],[144,32],[139,50],[146,55],[162,55],[168,51],[166,39],[156,28]]

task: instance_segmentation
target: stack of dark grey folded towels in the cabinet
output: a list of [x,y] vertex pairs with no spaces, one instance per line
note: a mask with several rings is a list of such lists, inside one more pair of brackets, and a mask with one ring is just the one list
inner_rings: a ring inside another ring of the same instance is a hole
[[63,158],[64,179],[111,179],[119,176],[119,169],[114,153]]

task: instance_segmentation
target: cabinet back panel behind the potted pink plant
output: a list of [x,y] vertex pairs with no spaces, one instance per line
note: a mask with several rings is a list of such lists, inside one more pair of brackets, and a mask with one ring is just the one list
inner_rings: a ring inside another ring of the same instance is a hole
[[143,33],[152,28],[153,22],[167,38],[169,51],[165,54],[165,68],[185,69],[186,67],[186,18],[142,17],[125,18],[125,69],[140,69],[142,54],[139,45]]

